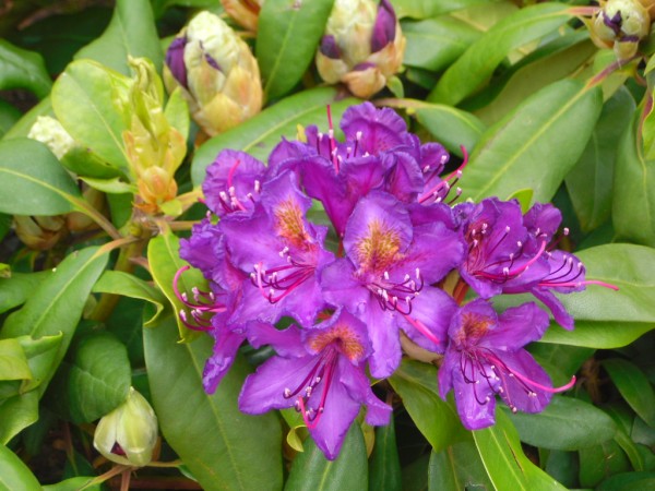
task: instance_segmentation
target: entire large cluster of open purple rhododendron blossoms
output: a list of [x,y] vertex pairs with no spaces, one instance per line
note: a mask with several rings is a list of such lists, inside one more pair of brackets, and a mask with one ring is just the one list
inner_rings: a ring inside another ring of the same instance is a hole
[[[536,204],[523,214],[497,197],[454,204],[463,166],[442,176],[448,152],[421,144],[391,109],[352,107],[341,129],[344,141],[308,127],[266,165],[226,149],[207,168],[211,213],[180,254],[209,290],[179,291],[183,270],[176,277],[182,321],[215,338],[205,390],[245,342],[271,346],[276,355],[248,376],[239,407],[296,408],[332,459],[362,406],[368,423],[389,421],[369,376],[393,374],[408,338],[443,355],[440,394],[454,390],[466,428],[493,423],[496,395],[513,411],[543,410],[574,379],[553,388],[524,346],[541,337],[548,312],[572,328],[553,291],[590,283],[557,249],[560,212]],[[520,292],[543,306],[496,312],[496,296]],[[291,325],[276,326],[283,318]]]

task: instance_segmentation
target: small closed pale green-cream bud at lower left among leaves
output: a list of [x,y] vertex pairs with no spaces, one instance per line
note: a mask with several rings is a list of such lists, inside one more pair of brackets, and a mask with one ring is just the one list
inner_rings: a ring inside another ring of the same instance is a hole
[[123,404],[100,419],[93,438],[104,457],[135,467],[150,464],[156,443],[157,417],[134,387]]

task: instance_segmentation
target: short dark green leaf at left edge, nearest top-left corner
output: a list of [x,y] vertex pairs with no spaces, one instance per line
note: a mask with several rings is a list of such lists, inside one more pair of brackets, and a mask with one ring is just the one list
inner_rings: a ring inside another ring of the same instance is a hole
[[52,81],[39,53],[0,39],[0,89],[27,88],[43,99],[51,86]]

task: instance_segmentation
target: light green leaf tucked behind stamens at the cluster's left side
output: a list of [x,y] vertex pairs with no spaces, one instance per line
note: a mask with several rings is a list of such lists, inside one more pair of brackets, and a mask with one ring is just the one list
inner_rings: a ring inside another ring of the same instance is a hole
[[[147,260],[151,266],[153,279],[164,292],[168,301],[172,304],[176,312],[176,320],[180,339],[183,342],[192,340],[198,337],[198,332],[189,330],[177,315],[184,310],[184,304],[177,298],[174,289],[174,278],[176,273],[183,266],[188,266],[186,261],[180,259],[179,239],[172,233],[162,233],[150,241],[147,247]],[[179,278],[180,291],[191,292],[193,286],[203,286],[206,282],[198,270],[190,270]],[[148,326],[154,323],[151,319]]]

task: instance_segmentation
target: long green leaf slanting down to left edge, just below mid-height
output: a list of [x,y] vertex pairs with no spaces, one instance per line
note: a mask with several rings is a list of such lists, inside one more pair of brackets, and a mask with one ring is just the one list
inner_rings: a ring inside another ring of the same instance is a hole
[[[107,264],[107,254],[97,255],[97,252],[98,248],[86,248],[63,260],[23,308],[7,318],[0,338],[22,335],[40,338],[63,333],[55,359],[57,367],[69,347],[91,288]],[[52,372],[44,376],[38,386],[39,395],[51,378]]]

